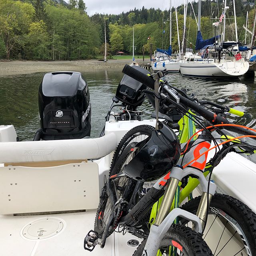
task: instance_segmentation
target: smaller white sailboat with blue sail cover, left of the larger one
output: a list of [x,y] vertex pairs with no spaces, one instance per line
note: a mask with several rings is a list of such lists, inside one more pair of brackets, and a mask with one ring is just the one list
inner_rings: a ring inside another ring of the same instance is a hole
[[[172,58],[172,4],[170,0],[170,46],[168,50],[156,49],[156,52],[152,56],[152,70],[168,70],[172,72],[178,72],[180,70],[179,59]],[[179,30],[178,30],[178,19],[177,19],[177,9],[176,10],[176,20],[177,20],[177,31],[178,31],[178,43],[180,49],[180,39],[179,39]],[[179,52],[180,53],[180,52]]]

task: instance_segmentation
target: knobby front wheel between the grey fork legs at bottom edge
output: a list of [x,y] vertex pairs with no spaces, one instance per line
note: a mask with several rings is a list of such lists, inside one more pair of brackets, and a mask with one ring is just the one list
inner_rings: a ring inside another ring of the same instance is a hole
[[[140,244],[133,256],[142,256],[146,239]],[[182,225],[172,225],[161,241],[157,256],[169,256],[169,248],[176,248],[178,256],[211,256],[212,252],[200,234]]]

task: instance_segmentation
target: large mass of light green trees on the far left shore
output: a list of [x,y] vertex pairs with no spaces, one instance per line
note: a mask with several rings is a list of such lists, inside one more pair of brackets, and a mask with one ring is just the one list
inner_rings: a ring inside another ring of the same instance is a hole
[[4,58],[74,60],[99,54],[100,28],[90,21],[84,2],[71,3],[74,8],[49,0],[33,4],[0,0]]

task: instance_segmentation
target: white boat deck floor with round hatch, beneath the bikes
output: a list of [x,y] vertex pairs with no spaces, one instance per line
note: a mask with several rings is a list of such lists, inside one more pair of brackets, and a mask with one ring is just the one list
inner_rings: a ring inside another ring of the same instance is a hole
[[[3,256],[118,256],[132,255],[137,248],[127,245],[141,239],[114,232],[104,249],[84,250],[84,237],[93,229],[96,211],[31,216],[0,216],[0,244]],[[33,223],[34,222],[34,223]],[[58,223],[62,222],[62,229]],[[32,225],[30,225],[32,224]],[[29,226],[24,233],[24,227]],[[57,231],[56,231],[57,230]],[[42,236],[38,236],[38,234]],[[29,238],[26,238],[28,236]],[[50,236],[50,237],[49,237]],[[48,238],[46,238],[48,237]]]

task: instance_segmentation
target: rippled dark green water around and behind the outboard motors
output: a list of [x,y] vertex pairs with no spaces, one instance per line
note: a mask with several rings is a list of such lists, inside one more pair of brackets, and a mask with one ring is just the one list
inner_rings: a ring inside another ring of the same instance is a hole
[[[0,76],[0,125],[13,124],[20,140],[32,140],[39,128],[38,86],[45,73]],[[104,117],[122,78],[119,70],[84,72],[92,103],[92,137],[98,137]],[[232,117],[239,124],[256,126],[256,82],[254,77],[237,80],[184,78],[169,74],[166,79],[178,88],[186,88],[199,99],[220,102],[245,112],[242,118]],[[149,118],[152,108],[144,103],[140,110]]]

